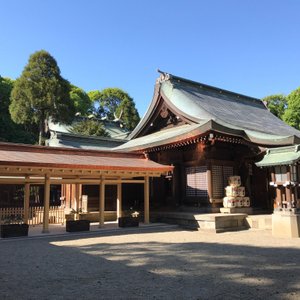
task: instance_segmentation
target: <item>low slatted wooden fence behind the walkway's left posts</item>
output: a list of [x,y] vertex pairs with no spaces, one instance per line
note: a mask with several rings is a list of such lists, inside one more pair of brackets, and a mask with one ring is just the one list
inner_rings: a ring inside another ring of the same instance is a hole
[[[24,208],[22,207],[9,207],[0,208],[0,224],[5,222],[5,219],[23,219]],[[44,207],[30,207],[29,208],[29,225],[43,224]],[[49,210],[49,224],[63,224],[65,221],[64,208],[59,206],[50,206]]]

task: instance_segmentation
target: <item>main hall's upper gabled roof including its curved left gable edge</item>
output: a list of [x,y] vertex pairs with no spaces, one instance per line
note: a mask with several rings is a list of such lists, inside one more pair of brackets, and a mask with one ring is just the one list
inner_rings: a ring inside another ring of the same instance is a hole
[[160,97],[191,123],[212,120],[221,126],[264,135],[265,138],[267,135],[300,138],[300,131],[275,117],[259,99],[162,73],[153,100],[130,139],[142,136],[141,132],[149,126]]

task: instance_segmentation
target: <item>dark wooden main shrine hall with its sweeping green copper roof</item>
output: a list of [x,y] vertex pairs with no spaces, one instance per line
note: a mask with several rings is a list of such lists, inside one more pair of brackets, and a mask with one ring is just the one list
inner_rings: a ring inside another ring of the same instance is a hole
[[153,178],[153,206],[219,212],[232,175],[241,176],[253,208],[272,210],[268,171],[255,162],[267,147],[299,144],[300,132],[260,99],[161,72],[129,138],[115,150],[174,166],[170,177]]

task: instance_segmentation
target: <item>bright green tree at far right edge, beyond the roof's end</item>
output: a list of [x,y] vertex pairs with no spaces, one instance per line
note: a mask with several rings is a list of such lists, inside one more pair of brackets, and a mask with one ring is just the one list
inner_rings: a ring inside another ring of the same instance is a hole
[[290,126],[300,130],[300,88],[287,96],[288,108],[284,112],[283,120]]

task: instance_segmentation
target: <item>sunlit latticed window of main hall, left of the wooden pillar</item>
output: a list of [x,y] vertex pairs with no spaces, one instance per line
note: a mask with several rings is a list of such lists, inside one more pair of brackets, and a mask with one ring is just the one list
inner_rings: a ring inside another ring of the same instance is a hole
[[186,168],[186,196],[207,198],[207,167]]

